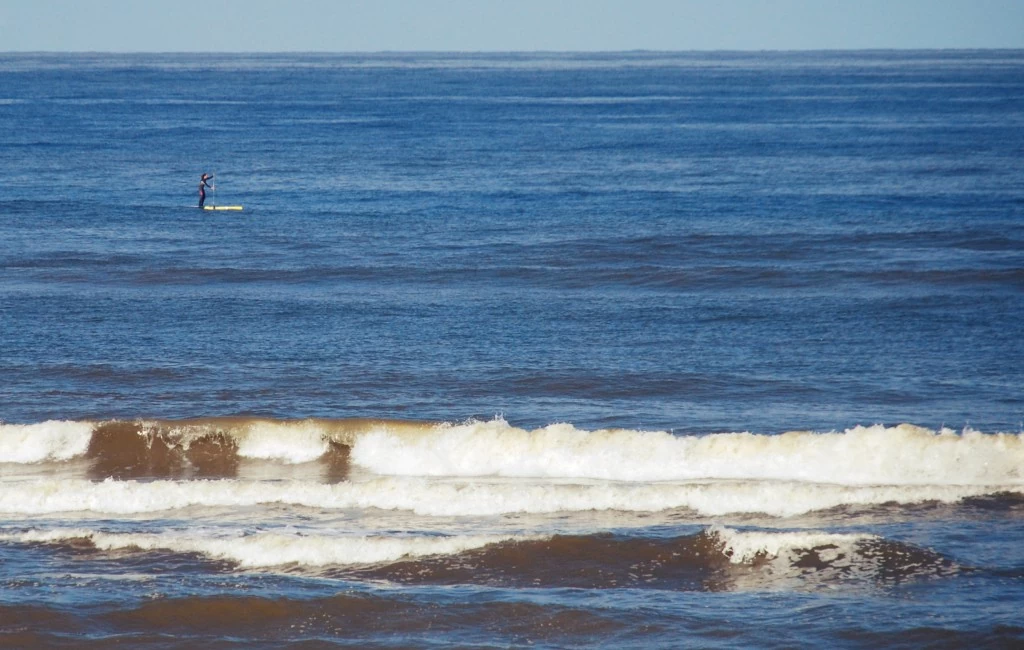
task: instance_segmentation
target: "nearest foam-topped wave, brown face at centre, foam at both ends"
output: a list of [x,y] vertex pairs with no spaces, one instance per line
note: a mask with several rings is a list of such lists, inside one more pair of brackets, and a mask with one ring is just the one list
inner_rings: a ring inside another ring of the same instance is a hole
[[171,552],[240,569],[319,571],[397,583],[763,588],[800,578],[897,580],[957,569],[941,555],[871,534],[737,530],[711,526],[677,537],[589,535],[342,536],[257,532],[106,532],[88,528],[0,533],[0,541],[100,552]]

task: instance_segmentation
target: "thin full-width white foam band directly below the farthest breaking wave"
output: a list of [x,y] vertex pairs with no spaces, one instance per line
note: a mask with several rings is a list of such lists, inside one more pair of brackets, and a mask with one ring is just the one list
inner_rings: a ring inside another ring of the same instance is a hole
[[116,481],[43,479],[0,482],[0,513],[132,515],[189,507],[246,508],[286,504],[325,510],[377,508],[424,516],[459,517],[513,513],[689,509],[703,516],[760,513],[801,515],[838,506],[886,503],[956,503],[1024,486],[890,485],[849,486],[794,481],[692,483],[436,481],[380,477],[338,484],[303,481],[199,480]]

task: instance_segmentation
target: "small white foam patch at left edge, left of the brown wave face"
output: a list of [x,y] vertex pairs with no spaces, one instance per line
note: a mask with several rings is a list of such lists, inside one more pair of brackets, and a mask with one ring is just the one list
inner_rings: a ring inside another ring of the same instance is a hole
[[50,420],[31,425],[0,424],[0,463],[68,461],[89,448],[92,423]]

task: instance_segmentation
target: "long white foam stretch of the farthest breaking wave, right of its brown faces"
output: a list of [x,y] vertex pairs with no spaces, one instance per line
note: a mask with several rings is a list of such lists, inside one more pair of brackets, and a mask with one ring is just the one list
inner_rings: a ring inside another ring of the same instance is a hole
[[1024,434],[933,432],[911,425],[843,433],[584,431],[551,425],[527,431],[502,420],[426,432],[376,429],[358,436],[351,459],[385,475],[799,480],[847,485],[1024,483]]

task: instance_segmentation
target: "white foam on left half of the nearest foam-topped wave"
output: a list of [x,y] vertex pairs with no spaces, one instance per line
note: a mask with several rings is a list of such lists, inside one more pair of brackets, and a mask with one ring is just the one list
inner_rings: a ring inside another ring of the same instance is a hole
[[236,562],[243,568],[300,565],[377,564],[404,558],[455,555],[525,537],[469,536],[332,536],[260,532],[211,537],[184,532],[115,533],[87,528],[57,528],[0,534],[0,539],[23,544],[59,544],[87,539],[103,551],[130,550],[199,553],[212,559]]

